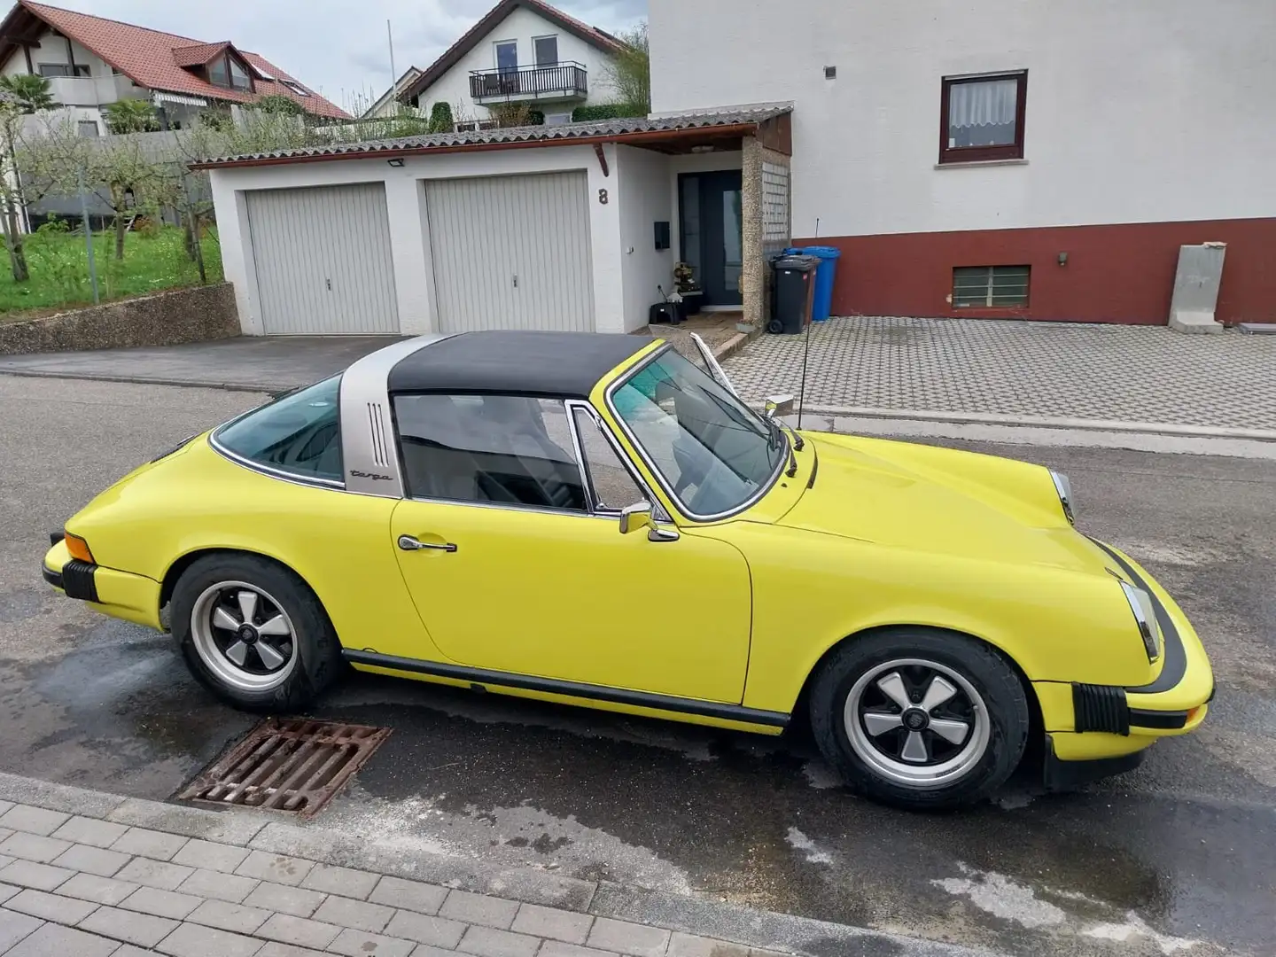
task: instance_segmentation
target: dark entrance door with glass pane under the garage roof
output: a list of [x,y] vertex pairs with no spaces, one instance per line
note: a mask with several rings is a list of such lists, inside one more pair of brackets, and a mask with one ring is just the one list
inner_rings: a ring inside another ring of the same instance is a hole
[[699,305],[738,306],[743,301],[743,176],[739,170],[718,170],[679,179],[683,258],[704,290]]

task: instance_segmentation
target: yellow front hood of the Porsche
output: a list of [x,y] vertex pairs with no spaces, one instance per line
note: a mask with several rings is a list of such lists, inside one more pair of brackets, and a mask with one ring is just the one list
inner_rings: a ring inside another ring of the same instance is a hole
[[804,434],[815,481],[780,524],[897,549],[1104,573],[1041,466],[886,439]]

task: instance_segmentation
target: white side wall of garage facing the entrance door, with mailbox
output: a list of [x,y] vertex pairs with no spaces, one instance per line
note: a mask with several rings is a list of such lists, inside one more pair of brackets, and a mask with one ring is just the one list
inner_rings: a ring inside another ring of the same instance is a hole
[[678,217],[669,191],[670,157],[649,149],[616,147],[616,198],[620,208],[625,332],[647,324],[660,301],[656,286],[674,290],[674,249],[656,249],[656,223],[667,222],[678,242]]

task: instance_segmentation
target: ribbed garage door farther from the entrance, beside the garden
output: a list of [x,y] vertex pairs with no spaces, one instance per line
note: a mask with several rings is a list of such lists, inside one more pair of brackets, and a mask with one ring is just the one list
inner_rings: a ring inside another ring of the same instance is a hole
[[263,189],[246,198],[268,334],[399,330],[383,184]]

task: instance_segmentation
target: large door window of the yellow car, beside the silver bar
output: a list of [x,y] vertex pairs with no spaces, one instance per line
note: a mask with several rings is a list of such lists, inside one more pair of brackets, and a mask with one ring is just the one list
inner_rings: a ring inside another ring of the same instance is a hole
[[407,494],[584,512],[561,402],[522,396],[396,396]]

